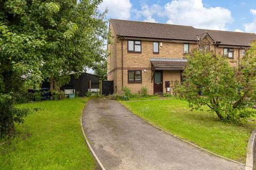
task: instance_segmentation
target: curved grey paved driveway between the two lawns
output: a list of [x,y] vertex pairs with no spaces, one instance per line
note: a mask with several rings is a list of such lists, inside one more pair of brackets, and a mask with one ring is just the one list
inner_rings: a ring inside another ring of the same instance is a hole
[[89,100],[82,119],[92,148],[109,170],[244,169],[154,128],[117,101]]

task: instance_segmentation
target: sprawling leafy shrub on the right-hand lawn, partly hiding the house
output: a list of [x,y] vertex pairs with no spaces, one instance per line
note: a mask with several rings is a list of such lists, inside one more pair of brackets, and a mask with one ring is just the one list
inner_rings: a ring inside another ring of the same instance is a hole
[[238,67],[232,67],[222,55],[194,50],[186,55],[185,80],[175,84],[174,92],[185,98],[191,109],[207,106],[220,120],[245,121],[256,112],[250,109],[256,102],[255,47],[253,43]]

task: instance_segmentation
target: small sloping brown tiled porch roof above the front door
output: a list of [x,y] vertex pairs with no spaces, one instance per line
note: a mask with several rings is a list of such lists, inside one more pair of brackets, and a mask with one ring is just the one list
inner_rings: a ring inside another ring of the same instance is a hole
[[177,58],[150,58],[154,70],[184,70],[186,59]]

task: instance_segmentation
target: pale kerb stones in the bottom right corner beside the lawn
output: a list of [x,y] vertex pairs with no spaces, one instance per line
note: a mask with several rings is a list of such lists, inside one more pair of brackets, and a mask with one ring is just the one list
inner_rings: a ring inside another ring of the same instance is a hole
[[245,163],[245,170],[252,170],[253,169],[253,157],[254,157],[254,147],[255,147],[255,136],[256,130],[254,129],[251,133],[250,139],[247,145],[247,153],[246,153],[246,163]]

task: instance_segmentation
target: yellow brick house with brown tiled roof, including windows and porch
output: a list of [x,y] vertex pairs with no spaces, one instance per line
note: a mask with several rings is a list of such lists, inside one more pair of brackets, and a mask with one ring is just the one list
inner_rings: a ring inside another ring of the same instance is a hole
[[108,80],[114,80],[114,92],[147,87],[149,94],[172,92],[169,84],[182,81],[183,56],[193,48],[223,54],[235,66],[256,39],[254,33],[116,19],[110,19],[109,31]]

